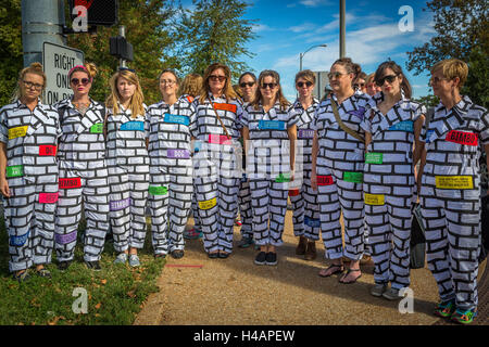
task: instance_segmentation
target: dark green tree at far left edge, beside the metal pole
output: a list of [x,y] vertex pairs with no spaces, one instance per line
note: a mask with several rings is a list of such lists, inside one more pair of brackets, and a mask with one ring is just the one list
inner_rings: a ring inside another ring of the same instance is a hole
[[10,103],[18,72],[24,66],[21,16],[21,0],[3,1],[0,8],[0,107]]

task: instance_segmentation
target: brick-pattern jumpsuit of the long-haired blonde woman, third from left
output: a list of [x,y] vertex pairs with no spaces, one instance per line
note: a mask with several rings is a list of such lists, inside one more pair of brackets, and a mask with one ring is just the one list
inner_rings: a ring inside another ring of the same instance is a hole
[[106,112],[110,221],[114,248],[122,253],[128,247],[142,248],[145,245],[149,188],[146,115],[134,118],[130,110],[121,104],[116,115],[112,110]]

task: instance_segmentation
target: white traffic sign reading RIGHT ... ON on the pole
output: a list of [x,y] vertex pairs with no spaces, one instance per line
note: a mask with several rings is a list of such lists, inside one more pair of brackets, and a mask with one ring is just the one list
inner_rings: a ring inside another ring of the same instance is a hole
[[52,105],[73,95],[67,74],[76,65],[83,65],[84,52],[70,47],[45,42],[42,46],[42,66],[48,78],[45,102]]

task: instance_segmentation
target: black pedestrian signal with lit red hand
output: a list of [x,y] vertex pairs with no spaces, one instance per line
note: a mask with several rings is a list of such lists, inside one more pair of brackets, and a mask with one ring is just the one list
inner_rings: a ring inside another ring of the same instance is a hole
[[73,9],[84,7],[87,9],[88,25],[113,26],[118,21],[118,0],[70,0],[72,21],[83,16],[84,12],[73,14]]

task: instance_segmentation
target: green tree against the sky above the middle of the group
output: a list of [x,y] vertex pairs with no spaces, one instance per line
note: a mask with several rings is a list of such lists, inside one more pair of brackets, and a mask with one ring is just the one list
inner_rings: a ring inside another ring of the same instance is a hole
[[256,36],[252,31],[254,22],[243,20],[250,4],[241,0],[192,0],[195,10],[179,7],[175,21],[178,37],[176,52],[184,73],[203,74],[212,63],[229,66],[233,76],[249,67],[238,61],[242,55],[254,56],[246,47]]

